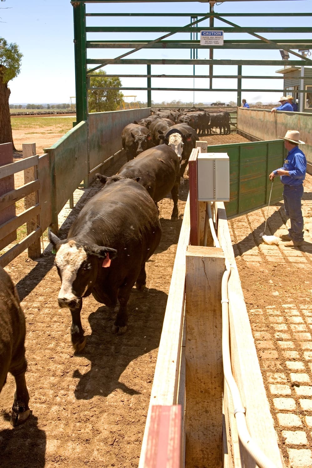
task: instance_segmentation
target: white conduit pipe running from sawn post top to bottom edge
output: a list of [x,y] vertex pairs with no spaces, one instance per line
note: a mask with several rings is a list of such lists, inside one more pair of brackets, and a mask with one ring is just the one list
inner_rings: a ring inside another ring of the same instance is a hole
[[245,418],[246,409],[243,407],[238,386],[234,380],[230,360],[230,325],[229,325],[229,298],[228,281],[230,277],[230,262],[225,260],[225,271],[221,282],[221,304],[222,304],[222,358],[223,373],[226,383],[230,389],[233,400],[234,416],[237,425],[238,437],[246,451],[260,468],[276,468],[267,455],[253,442]]

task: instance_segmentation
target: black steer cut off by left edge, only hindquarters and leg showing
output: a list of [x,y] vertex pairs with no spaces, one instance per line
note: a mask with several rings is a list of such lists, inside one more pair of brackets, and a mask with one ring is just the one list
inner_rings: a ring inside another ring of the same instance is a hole
[[6,271],[0,267],[0,391],[10,372],[15,378],[16,391],[11,424],[24,422],[30,415],[29,394],[25,372],[25,316],[19,297]]

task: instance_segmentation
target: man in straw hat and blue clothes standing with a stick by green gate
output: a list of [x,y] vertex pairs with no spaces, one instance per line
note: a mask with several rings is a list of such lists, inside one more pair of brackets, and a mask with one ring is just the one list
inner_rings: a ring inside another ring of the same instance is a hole
[[284,159],[282,168],[275,169],[269,175],[273,181],[275,176],[281,176],[281,182],[284,184],[283,198],[286,215],[290,217],[290,229],[288,234],[280,235],[282,241],[286,242],[285,247],[298,247],[304,242],[304,221],[301,211],[301,198],[304,188],[306,159],[305,154],[298,148],[298,144],[305,144],[299,139],[300,134],[297,130],[288,130],[284,137],[284,146],[288,151],[287,158]]

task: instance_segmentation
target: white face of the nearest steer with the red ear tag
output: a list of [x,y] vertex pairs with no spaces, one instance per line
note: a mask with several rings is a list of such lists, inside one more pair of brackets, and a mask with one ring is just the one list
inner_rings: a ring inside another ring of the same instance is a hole
[[87,261],[87,254],[82,247],[78,247],[75,241],[69,241],[66,244],[61,244],[55,256],[55,264],[57,266],[59,276],[61,278],[61,288],[59,291],[60,307],[68,307],[68,304],[77,302],[88,289],[88,282],[81,284],[82,291],[79,296],[74,293],[73,283],[77,278],[77,272],[81,268],[82,263]]

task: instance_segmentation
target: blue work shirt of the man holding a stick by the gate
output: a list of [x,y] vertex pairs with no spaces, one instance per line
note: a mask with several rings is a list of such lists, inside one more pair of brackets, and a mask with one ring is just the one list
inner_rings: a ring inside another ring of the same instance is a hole
[[[289,171],[289,176],[281,176],[281,182],[287,185],[300,185],[305,180],[305,171],[306,171],[306,159],[305,154],[295,146],[287,155],[287,158],[284,159],[284,165],[282,168],[285,171]],[[273,174],[276,176],[277,171],[275,169]]]

